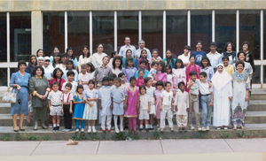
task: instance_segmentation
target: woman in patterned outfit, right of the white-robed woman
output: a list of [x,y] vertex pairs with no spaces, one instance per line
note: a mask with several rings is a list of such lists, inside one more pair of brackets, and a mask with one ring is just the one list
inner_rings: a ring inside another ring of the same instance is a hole
[[231,102],[231,115],[233,129],[236,130],[238,126],[245,129],[245,112],[248,100],[249,78],[248,74],[244,72],[245,64],[239,60],[236,63],[237,72],[232,73],[233,91]]

